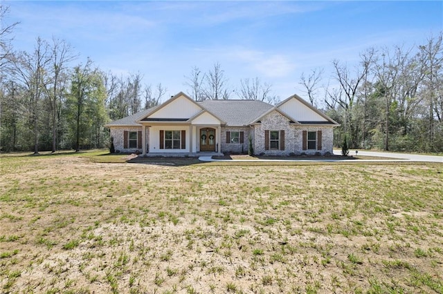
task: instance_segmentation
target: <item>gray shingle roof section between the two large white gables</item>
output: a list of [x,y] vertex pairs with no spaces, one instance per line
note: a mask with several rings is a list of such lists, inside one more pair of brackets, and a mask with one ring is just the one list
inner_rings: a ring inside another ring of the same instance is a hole
[[198,103],[226,121],[228,126],[246,126],[273,108],[270,104],[257,100],[205,100]]

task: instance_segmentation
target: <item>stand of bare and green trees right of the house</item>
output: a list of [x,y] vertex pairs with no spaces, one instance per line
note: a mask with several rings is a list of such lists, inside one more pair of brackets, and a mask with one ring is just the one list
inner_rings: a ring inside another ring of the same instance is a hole
[[[357,66],[332,61],[302,75],[311,104],[323,89],[325,112],[341,124],[334,144],[350,148],[443,152],[443,34],[411,48],[369,48]],[[331,86],[334,84],[334,86]]]

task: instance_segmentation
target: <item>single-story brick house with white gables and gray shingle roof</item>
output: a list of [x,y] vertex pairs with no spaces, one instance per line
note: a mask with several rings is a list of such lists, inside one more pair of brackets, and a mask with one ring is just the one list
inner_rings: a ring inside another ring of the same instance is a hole
[[255,155],[327,155],[338,124],[298,95],[272,106],[257,100],[194,101],[179,92],[106,126],[122,153],[247,153],[252,144]]

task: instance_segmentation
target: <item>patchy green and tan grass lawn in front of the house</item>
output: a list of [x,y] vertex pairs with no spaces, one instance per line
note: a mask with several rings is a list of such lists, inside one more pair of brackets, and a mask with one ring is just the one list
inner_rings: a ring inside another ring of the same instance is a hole
[[443,293],[442,164],[127,161],[0,156],[0,293]]

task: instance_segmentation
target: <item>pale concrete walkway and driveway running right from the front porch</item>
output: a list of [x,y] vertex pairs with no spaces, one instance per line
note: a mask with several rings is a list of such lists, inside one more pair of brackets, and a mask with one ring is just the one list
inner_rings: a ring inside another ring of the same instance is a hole
[[[334,155],[341,155],[341,150],[334,150]],[[355,151],[350,151],[350,155],[355,155]],[[402,162],[402,161],[415,161],[415,162],[437,162],[443,163],[443,156],[436,155],[415,155],[407,153],[383,153],[383,152],[370,152],[359,151],[359,155],[362,156],[374,156],[374,157],[386,157],[390,159],[213,159],[212,156],[201,156],[200,161],[206,162]]]

